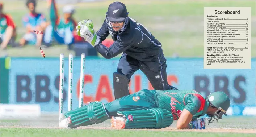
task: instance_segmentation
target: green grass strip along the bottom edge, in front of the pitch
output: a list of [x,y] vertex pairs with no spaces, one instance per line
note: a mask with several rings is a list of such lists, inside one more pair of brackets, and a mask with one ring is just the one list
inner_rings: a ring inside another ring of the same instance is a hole
[[1,137],[255,137],[255,134],[107,129],[1,128]]

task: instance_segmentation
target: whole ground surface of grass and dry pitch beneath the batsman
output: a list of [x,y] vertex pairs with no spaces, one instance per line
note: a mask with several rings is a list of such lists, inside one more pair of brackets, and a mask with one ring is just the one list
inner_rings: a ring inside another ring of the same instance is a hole
[[255,137],[255,116],[227,116],[218,123],[207,125],[205,130],[177,130],[176,121],[164,129],[125,129],[110,128],[110,121],[77,129],[58,128],[58,117],[45,115],[39,119],[1,120],[1,137]]

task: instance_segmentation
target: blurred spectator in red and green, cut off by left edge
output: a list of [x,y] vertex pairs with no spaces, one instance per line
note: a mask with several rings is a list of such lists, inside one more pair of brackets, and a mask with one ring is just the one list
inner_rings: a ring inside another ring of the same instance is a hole
[[5,49],[7,45],[12,45],[15,47],[17,44],[15,43],[16,39],[16,25],[13,22],[13,19],[10,15],[4,14],[3,12],[3,4],[0,3],[0,13],[1,13],[1,49]]

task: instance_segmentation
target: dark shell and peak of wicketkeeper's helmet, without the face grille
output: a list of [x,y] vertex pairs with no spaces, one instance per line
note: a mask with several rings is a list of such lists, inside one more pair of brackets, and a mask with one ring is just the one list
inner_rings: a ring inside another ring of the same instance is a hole
[[121,2],[113,2],[108,7],[106,14],[108,21],[110,22],[122,22],[125,21],[128,16],[125,4]]

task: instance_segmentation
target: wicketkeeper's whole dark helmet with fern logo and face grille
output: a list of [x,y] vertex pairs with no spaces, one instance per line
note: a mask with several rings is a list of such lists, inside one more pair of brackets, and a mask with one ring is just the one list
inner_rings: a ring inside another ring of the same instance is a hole
[[[121,34],[126,29],[129,21],[128,13],[129,12],[127,12],[125,4],[121,2],[113,2],[109,5],[108,11],[106,12],[106,22],[108,23],[109,30],[113,34]],[[115,31],[113,29],[113,25],[110,22],[124,23],[120,30]]]

